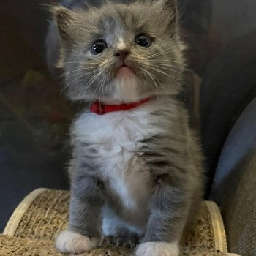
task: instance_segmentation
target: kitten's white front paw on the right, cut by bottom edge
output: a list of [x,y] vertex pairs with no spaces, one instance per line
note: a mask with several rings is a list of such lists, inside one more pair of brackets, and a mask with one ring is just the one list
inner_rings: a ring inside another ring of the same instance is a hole
[[140,244],[135,256],[178,256],[178,243],[147,242]]

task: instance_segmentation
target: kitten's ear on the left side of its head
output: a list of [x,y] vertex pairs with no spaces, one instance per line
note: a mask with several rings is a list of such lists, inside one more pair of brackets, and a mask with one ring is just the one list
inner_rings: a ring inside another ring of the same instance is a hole
[[59,29],[61,39],[66,43],[72,43],[72,23],[74,23],[74,13],[66,7],[53,7],[54,20]]

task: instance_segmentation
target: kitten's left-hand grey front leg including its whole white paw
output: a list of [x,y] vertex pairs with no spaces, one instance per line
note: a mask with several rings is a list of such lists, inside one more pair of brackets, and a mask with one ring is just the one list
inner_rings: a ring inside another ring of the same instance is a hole
[[56,240],[61,252],[77,254],[98,246],[102,205],[102,186],[96,178],[77,177],[72,181],[69,227]]

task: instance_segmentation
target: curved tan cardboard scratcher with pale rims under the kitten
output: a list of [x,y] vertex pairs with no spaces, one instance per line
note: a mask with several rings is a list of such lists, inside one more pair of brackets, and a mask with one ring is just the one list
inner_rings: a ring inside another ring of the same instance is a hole
[[[20,203],[0,235],[0,255],[62,255],[54,247],[56,233],[67,227],[69,192],[37,189]],[[225,229],[219,208],[205,201],[181,241],[182,256],[227,256]],[[128,256],[129,249],[108,246],[83,256]],[[80,255],[80,256],[82,256]]]

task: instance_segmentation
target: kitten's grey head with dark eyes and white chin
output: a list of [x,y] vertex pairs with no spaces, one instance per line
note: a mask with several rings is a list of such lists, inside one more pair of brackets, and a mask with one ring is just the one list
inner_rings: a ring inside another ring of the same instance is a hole
[[70,99],[135,102],[176,94],[184,59],[175,0],[54,8]]

